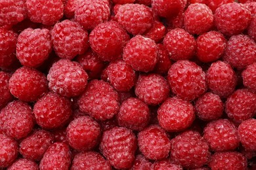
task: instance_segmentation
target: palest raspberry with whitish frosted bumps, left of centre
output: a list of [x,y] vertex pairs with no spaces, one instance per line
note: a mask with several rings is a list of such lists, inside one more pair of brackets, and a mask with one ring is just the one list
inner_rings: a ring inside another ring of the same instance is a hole
[[81,94],[87,85],[88,75],[75,61],[60,59],[53,64],[47,75],[49,88],[66,97]]

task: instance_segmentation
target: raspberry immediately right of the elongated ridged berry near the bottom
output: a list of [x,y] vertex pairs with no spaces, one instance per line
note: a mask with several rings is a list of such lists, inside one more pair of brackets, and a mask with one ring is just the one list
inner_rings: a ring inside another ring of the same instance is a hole
[[167,158],[170,152],[170,141],[160,126],[149,126],[138,134],[140,152],[150,160]]

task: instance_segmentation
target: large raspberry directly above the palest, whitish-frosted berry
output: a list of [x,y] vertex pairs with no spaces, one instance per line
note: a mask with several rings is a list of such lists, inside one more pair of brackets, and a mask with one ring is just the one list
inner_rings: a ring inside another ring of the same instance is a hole
[[89,46],[87,31],[70,20],[55,24],[51,35],[54,51],[60,58],[73,59],[77,54],[83,54]]

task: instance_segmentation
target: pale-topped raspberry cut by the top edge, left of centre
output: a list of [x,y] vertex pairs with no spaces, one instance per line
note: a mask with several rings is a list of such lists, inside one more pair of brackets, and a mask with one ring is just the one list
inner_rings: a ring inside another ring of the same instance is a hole
[[93,29],[110,17],[108,0],[79,1],[75,8],[75,20],[84,29]]

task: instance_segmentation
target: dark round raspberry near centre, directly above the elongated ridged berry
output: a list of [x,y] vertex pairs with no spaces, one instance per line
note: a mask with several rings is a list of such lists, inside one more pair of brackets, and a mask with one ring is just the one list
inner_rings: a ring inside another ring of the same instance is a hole
[[121,104],[117,120],[119,126],[140,131],[148,125],[150,110],[140,99],[131,97]]

